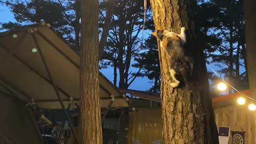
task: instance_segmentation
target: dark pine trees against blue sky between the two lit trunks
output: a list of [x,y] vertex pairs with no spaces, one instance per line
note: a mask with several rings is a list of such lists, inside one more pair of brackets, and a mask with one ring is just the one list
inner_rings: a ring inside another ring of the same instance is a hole
[[143,25],[143,9],[143,2],[135,0],[118,0],[114,8],[101,66],[103,68],[109,65],[113,67],[114,85],[117,85],[117,76],[119,76],[118,87],[121,89],[127,89],[141,72],[139,68],[135,75],[132,75],[130,66],[134,57],[137,57],[141,51],[139,34]]

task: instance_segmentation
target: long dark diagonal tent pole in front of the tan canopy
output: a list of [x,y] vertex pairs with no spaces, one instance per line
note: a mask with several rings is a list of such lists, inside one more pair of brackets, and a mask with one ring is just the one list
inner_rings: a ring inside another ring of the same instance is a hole
[[33,39],[34,39],[34,42],[35,42],[36,47],[37,47],[37,49],[38,49],[39,55],[41,56],[41,58],[42,58],[42,60],[43,60],[44,67],[45,67],[45,69],[46,69],[46,71],[47,71],[47,74],[49,75],[49,78],[50,78],[50,82],[52,83],[53,88],[54,88],[54,90],[55,90],[55,93],[56,93],[57,97],[58,97],[59,100],[60,100],[60,105],[61,105],[61,107],[62,107],[62,109],[63,109],[63,111],[64,111],[64,113],[65,113],[65,116],[66,116],[66,118],[67,118],[68,124],[70,125],[70,129],[71,129],[71,132],[72,132],[72,134],[73,134],[73,137],[74,137],[76,143],[78,144],[78,141],[77,141],[77,138],[76,138],[76,135],[75,135],[75,131],[74,131],[73,125],[72,125],[71,120],[70,120],[70,118],[69,118],[69,116],[68,116],[68,113],[67,113],[67,110],[66,110],[66,108],[65,108],[65,106],[64,106],[64,103],[63,103],[62,99],[60,98],[60,93],[59,93],[59,91],[58,91],[58,89],[57,89],[57,86],[56,86],[55,83],[53,82],[53,78],[52,78],[52,75],[51,75],[51,73],[50,73],[50,69],[49,69],[49,67],[48,67],[48,65],[47,65],[47,62],[46,62],[45,58],[44,58],[44,55],[43,55],[42,50],[41,50],[41,47],[39,46],[39,44],[38,44],[38,42],[37,42],[37,39],[36,39],[36,37],[35,37],[35,34],[34,34],[34,33],[31,33],[31,35],[32,35],[32,37],[33,37]]

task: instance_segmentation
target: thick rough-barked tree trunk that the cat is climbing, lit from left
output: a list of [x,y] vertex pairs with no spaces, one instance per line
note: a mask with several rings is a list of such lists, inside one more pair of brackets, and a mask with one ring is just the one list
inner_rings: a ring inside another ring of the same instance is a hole
[[193,80],[187,88],[172,89],[170,86],[170,56],[161,49],[158,42],[161,63],[161,98],[163,134],[167,143],[218,144],[208,76],[203,50],[198,46],[191,1],[150,0],[155,28],[163,27],[180,33],[181,27],[188,29],[187,49],[194,58]]

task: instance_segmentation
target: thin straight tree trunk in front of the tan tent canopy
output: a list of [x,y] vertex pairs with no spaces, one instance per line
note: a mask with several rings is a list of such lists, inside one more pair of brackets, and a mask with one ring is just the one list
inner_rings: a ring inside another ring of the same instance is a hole
[[81,143],[101,144],[99,98],[99,4],[98,0],[81,1]]

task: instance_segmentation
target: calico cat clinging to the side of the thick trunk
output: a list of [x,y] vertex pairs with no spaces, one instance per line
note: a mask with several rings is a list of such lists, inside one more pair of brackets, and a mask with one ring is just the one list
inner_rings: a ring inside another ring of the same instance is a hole
[[193,59],[184,53],[183,45],[186,43],[186,28],[182,27],[180,34],[172,31],[157,29],[152,33],[160,41],[162,50],[170,55],[170,74],[174,82],[170,83],[171,87],[178,87],[180,81],[187,86],[187,79],[192,74]]

